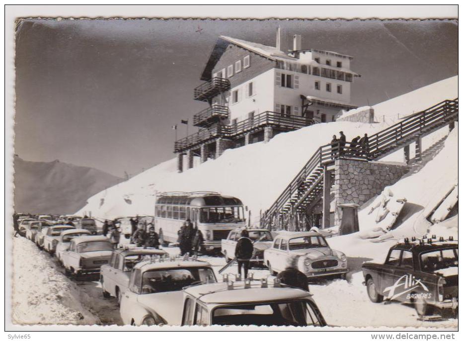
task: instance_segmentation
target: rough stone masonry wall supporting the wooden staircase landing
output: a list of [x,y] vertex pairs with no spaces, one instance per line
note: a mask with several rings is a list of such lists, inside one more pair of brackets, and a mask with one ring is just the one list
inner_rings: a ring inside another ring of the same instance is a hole
[[334,225],[339,225],[342,218],[338,204],[362,205],[408,171],[408,166],[337,159],[334,162]]

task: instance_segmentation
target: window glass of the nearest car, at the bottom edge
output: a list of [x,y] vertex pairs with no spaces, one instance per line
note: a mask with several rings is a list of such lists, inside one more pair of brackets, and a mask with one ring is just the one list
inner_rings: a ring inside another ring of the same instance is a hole
[[308,301],[239,304],[216,308],[212,324],[221,326],[323,326]]

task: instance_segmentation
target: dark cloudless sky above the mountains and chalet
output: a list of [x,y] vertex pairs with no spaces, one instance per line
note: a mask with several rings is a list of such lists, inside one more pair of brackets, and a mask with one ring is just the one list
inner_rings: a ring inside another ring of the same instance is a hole
[[[173,157],[219,35],[354,57],[352,102],[373,105],[458,73],[455,21],[25,20],[16,33],[15,153],[117,176]],[[197,32],[200,31],[200,32]],[[185,125],[178,125],[178,138]],[[191,125],[189,132],[197,131]]]

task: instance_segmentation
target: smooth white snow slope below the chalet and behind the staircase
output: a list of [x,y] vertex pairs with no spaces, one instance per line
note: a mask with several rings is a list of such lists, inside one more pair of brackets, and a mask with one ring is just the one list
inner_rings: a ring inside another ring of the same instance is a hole
[[[442,99],[455,97],[456,90],[451,86],[455,80],[451,78],[428,85],[377,106],[384,110],[396,106],[402,108],[402,112],[406,108],[406,112],[403,112],[406,114],[419,111]],[[420,90],[422,95],[419,95]],[[434,94],[432,101],[429,99],[430,93]],[[425,107],[423,103],[426,103]],[[101,218],[152,215],[156,191],[217,191],[240,198],[251,210],[251,219],[258,221],[260,210],[264,211],[271,206],[318,147],[329,143],[332,135],[339,136],[342,130],[347,139],[351,140],[364,133],[371,135],[387,126],[387,121],[375,124],[316,124],[278,134],[268,143],[260,142],[227,150],[216,160],[207,161],[183,173],[176,172],[176,160],[172,159],[92,196],[78,213],[91,211],[92,215]],[[443,128],[425,137],[423,148],[432,146],[447,134],[448,128]],[[413,151],[413,146],[410,149]],[[411,154],[413,157],[413,152]],[[393,153],[384,161],[402,162],[403,153]]]

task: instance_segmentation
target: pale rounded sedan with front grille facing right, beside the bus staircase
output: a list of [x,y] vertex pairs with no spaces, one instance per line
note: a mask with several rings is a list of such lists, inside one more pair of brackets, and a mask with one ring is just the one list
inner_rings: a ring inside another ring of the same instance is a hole
[[299,256],[297,267],[309,278],[333,275],[345,278],[348,271],[346,255],[331,249],[316,232],[279,233],[272,247],[264,251],[265,265],[271,274],[283,271],[288,258],[294,256]]

